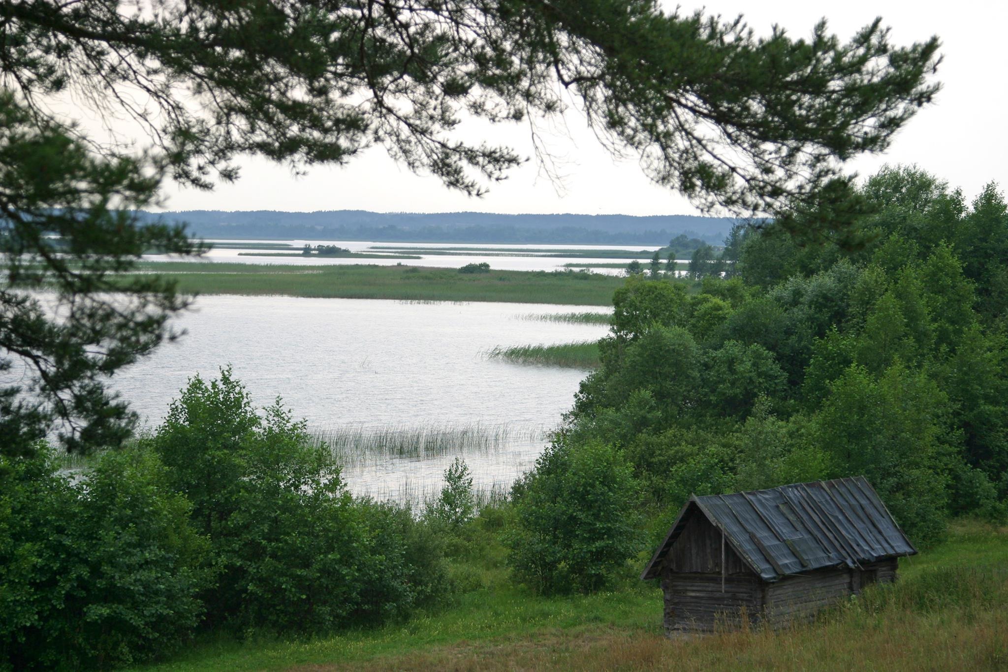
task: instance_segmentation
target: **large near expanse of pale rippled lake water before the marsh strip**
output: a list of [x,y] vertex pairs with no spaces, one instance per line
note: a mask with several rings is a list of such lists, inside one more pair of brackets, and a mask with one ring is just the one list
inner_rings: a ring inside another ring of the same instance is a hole
[[[586,371],[488,360],[495,346],[595,340],[600,324],[529,318],[596,306],[201,296],[176,320],[187,334],[120,372],[114,387],[149,424],[190,376],[230,364],[257,406],[276,396],[314,430],[466,428],[487,445],[464,452],[480,488],[509,486],[571,409]],[[496,437],[496,438],[494,438]],[[454,454],[348,464],[361,494],[415,499],[439,488]]]

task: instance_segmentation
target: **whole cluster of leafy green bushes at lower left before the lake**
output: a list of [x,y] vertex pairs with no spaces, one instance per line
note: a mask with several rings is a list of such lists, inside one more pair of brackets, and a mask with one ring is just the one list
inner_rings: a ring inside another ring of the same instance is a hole
[[33,452],[0,462],[0,669],[131,663],[200,624],[380,623],[451,590],[429,525],[352,497],[329,447],[279,400],[256,413],[228,369],[76,482]]

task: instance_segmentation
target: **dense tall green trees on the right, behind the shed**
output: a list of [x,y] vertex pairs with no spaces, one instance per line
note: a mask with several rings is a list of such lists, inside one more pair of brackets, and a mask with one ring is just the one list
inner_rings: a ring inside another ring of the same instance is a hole
[[911,537],[1004,515],[1008,216],[913,168],[853,252],[745,234],[699,291],[628,279],[557,444],[618,446],[648,498],[865,475]]

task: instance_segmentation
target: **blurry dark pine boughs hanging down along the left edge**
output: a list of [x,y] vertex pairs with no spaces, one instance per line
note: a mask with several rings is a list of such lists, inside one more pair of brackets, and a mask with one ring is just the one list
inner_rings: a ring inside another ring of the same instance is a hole
[[79,452],[129,437],[136,416],[106,377],[171,338],[187,300],[170,280],[121,274],[152,247],[200,251],[181,227],[138,226],[131,209],[160,181],[146,157],[95,155],[0,88],[0,453],[52,429]]

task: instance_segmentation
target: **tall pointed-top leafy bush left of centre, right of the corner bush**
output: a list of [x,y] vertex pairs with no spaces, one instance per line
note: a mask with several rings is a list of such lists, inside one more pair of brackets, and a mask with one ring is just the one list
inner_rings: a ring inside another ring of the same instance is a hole
[[152,442],[210,536],[221,569],[207,593],[214,620],[319,632],[443,590],[439,551],[409,513],[355,501],[329,446],[279,401],[257,414],[230,370],[191,380]]

